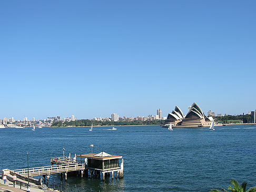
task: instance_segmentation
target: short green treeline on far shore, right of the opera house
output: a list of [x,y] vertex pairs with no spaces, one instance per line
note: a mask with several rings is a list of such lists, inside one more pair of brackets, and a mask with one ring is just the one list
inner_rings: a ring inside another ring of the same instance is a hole
[[227,115],[223,117],[214,117],[215,122],[218,123],[251,123],[250,115]]

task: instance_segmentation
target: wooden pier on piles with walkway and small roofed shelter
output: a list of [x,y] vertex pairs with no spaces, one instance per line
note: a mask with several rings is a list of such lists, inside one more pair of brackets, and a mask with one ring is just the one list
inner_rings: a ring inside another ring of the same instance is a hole
[[[19,183],[23,183],[24,186],[28,185],[28,175],[29,183],[31,187],[41,188],[43,185],[43,180],[35,179],[33,177],[43,176],[45,182],[50,178],[52,174],[65,175],[65,180],[67,180],[67,174],[77,171],[77,175],[85,175],[88,177],[88,172],[90,172],[90,178],[96,176],[101,177],[105,180],[106,176],[110,176],[112,173],[112,179],[114,178],[114,172],[116,172],[116,177],[123,178],[123,159],[119,165],[119,159],[122,156],[110,155],[102,151],[99,154],[84,154],[75,155],[75,157],[55,157],[51,158],[51,166],[44,167],[32,167],[23,169],[3,169],[2,174],[7,175],[7,179],[13,181],[13,175],[16,174]],[[55,165],[54,165],[55,164]],[[34,184],[34,185],[33,185]]]

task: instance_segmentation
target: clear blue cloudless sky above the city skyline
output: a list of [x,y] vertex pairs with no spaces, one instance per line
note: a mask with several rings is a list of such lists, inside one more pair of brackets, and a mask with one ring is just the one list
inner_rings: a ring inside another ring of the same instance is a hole
[[0,118],[256,109],[256,1],[1,1]]

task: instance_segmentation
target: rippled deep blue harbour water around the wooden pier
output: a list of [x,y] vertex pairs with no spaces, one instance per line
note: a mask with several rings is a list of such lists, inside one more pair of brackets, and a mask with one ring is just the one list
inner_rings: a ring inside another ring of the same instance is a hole
[[[51,157],[105,151],[124,158],[124,178],[68,176],[68,191],[210,191],[227,188],[230,179],[256,186],[256,126],[208,128],[120,126],[0,129],[0,169],[51,165]],[[60,175],[50,183],[60,183]],[[74,188],[76,186],[76,188]]]

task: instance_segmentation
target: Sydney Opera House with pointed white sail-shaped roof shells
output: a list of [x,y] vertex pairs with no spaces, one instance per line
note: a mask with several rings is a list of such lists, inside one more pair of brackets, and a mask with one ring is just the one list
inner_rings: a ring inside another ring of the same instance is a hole
[[211,124],[211,119],[203,114],[201,108],[196,103],[193,103],[189,107],[189,112],[186,116],[184,116],[182,110],[176,106],[172,113],[168,114],[165,124],[181,127],[204,127]]

